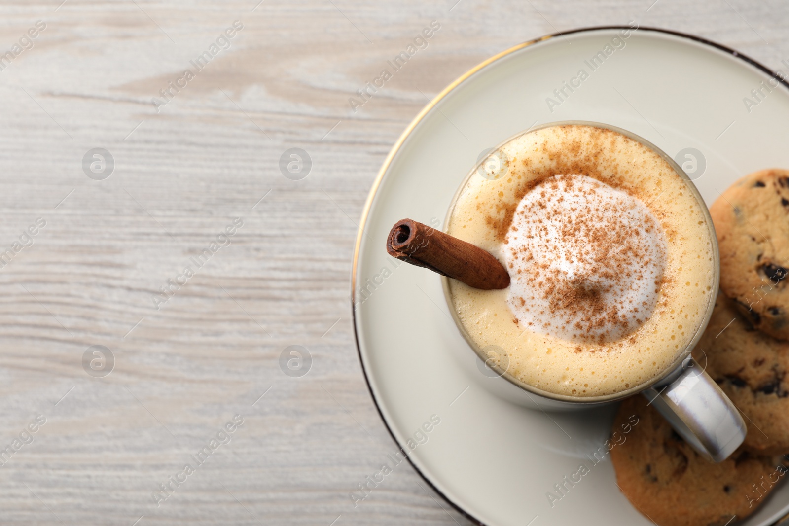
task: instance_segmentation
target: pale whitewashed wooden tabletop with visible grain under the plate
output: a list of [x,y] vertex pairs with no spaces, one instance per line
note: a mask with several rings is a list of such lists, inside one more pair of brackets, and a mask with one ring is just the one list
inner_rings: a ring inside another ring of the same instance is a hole
[[[0,252],[47,222],[0,268],[0,445],[47,419],[0,468],[2,524],[468,524],[406,464],[349,497],[395,450],[350,324],[357,222],[391,144],[425,97],[546,33],[636,19],[772,67],[789,54],[778,0],[60,2],[0,6],[0,50],[47,24],[0,72]],[[235,20],[230,49],[157,112]],[[432,20],[428,47],[353,111]],[[94,147],[116,162],[103,181],[82,169]],[[301,181],[279,170],[290,147],[312,158]],[[91,345],[114,353],[105,378],[84,371]],[[282,373],[288,345],[312,354],[308,375]],[[235,414],[232,441],[157,507]]]

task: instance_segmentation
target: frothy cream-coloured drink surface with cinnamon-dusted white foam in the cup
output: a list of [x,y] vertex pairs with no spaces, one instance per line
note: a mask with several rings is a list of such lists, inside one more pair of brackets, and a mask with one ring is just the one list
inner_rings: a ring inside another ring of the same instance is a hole
[[469,337],[555,394],[615,394],[664,372],[715,299],[712,235],[689,183],[649,147],[589,125],[537,129],[492,155],[447,225],[511,279],[450,280]]

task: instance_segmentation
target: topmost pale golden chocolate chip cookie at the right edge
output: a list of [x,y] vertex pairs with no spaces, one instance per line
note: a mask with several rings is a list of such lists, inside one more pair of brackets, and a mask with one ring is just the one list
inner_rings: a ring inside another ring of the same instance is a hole
[[759,330],[789,339],[789,170],[742,177],[709,208],[720,289]]

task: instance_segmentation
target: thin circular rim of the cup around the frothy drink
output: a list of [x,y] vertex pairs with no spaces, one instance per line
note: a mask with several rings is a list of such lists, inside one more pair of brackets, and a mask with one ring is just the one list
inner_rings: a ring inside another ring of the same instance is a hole
[[[513,136],[510,136],[506,140],[503,140],[495,147],[493,147],[491,152],[499,150],[499,148],[509,143],[510,140],[514,140],[519,136],[525,135],[526,133],[534,132],[539,129],[550,128],[551,126],[560,126],[560,125],[585,125],[585,126],[593,126],[595,128],[610,129],[612,132],[621,133],[623,136],[635,140],[639,144],[642,144],[645,147],[650,148],[657,155],[660,155],[660,157],[663,158],[666,162],[668,162],[669,166],[671,166],[671,168],[676,173],[679,174],[679,177],[685,181],[688,190],[694,196],[697,203],[699,203],[699,205],[701,206],[701,213],[705,217],[705,221],[707,223],[707,229],[709,231],[709,236],[712,243],[713,263],[714,263],[712,269],[712,272],[714,274],[713,287],[712,287],[712,291],[710,291],[710,295],[707,300],[707,310],[705,312],[704,319],[701,320],[701,324],[698,326],[696,333],[694,334],[694,337],[691,338],[690,342],[688,343],[688,345],[686,345],[685,349],[682,349],[682,351],[680,351],[677,354],[677,358],[673,362],[671,362],[671,364],[669,364],[663,371],[661,371],[660,375],[656,375],[652,379],[649,379],[646,382],[639,384],[638,386],[630,387],[622,391],[617,391],[616,393],[598,395],[593,397],[573,397],[567,394],[555,394],[550,391],[541,390],[535,386],[531,386],[528,383],[522,382],[521,380],[514,378],[514,376],[507,373],[507,371],[503,371],[498,365],[496,365],[495,367],[491,367],[492,370],[498,373],[498,375],[501,376],[503,379],[506,379],[508,382],[514,384],[515,386],[520,387],[521,389],[529,393],[537,394],[540,397],[550,398],[552,400],[557,400],[557,401],[571,402],[574,404],[600,404],[604,402],[620,400],[622,398],[626,398],[634,394],[638,394],[641,391],[649,389],[649,387],[655,386],[656,384],[659,384],[664,380],[673,378],[674,374],[677,372],[680,365],[682,364],[682,361],[685,360],[687,356],[690,355],[690,351],[694,349],[699,339],[701,338],[701,334],[703,334],[704,330],[707,328],[709,319],[712,317],[712,308],[715,307],[715,297],[717,295],[718,285],[720,283],[720,254],[718,252],[718,239],[715,233],[715,226],[712,225],[712,217],[709,215],[709,208],[707,207],[707,204],[704,202],[704,200],[701,198],[701,194],[698,192],[698,188],[696,188],[694,182],[690,179],[690,177],[687,176],[687,173],[685,173],[685,170],[682,170],[682,168],[675,162],[675,160],[671,159],[671,157],[669,157],[666,154],[666,152],[661,150],[659,147],[656,147],[656,145],[649,142],[649,140],[646,140],[643,137],[636,135],[634,132],[630,132],[626,129],[622,129],[614,125],[604,124],[603,122],[555,121],[555,122],[548,122],[542,125],[536,125],[529,129],[526,129],[525,131],[515,133]],[[488,159],[489,156],[490,155],[488,154],[485,155],[482,159],[480,159],[477,162],[477,164],[475,164],[471,168],[471,170],[469,170],[469,173],[466,173],[466,177],[463,177],[462,182],[460,183],[460,185],[458,185],[457,191],[454,192],[454,196],[452,196],[452,202],[449,206],[449,209],[447,210],[447,215],[444,217],[444,222],[443,222],[444,232],[447,232],[450,218],[452,212],[454,211],[455,203],[458,202],[458,198],[460,197],[463,189],[466,188],[466,184],[469,182],[469,179],[473,177],[474,173],[477,173],[479,167],[482,165],[483,162],[485,162]],[[454,305],[452,304],[452,296],[449,289],[449,278],[447,278],[447,276],[441,276],[441,288],[443,289],[444,300],[447,301],[447,307],[451,312],[452,319],[454,320],[455,325],[458,326],[458,330],[460,331],[460,334],[462,334],[463,338],[466,340],[466,343],[469,344],[469,347],[473,349],[474,353],[477,354],[480,360],[482,360],[487,364],[489,357],[483,352],[482,349],[480,349],[479,345],[477,345],[477,343],[473,341],[473,338],[471,338],[471,336],[466,332],[466,329],[463,328],[463,324],[458,316],[458,312],[455,310]]]

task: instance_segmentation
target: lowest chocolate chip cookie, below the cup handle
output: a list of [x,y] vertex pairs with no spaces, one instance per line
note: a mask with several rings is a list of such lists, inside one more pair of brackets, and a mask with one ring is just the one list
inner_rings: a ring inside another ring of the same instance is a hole
[[654,523],[723,526],[753,513],[787,478],[771,457],[742,449],[719,464],[705,460],[647,403],[638,396],[620,406],[615,429],[637,422],[611,461],[619,489]]

